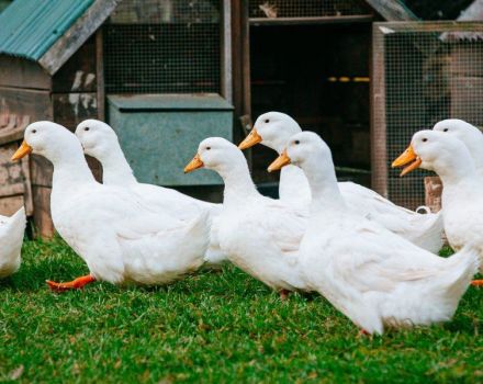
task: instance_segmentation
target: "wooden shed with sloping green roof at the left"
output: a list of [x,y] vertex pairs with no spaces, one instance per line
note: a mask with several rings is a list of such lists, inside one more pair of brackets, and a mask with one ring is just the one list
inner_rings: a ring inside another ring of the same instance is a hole
[[[74,128],[85,118],[104,117],[97,31],[115,4],[19,0],[0,14],[0,204],[10,214],[23,202],[42,236],[53,234],[52,166],[37,156],[21,165],[9,157],[31,122]],[[99,171],[94,163],[93,169]]]

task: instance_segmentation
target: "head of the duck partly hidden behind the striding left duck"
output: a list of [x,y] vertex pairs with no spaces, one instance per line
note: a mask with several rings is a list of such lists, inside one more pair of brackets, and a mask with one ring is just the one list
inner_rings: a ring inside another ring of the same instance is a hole
[[114,129],[99,120],[85,120],[77,126],[76,136],[82,145],[85,154],[101,162],[120,148]]

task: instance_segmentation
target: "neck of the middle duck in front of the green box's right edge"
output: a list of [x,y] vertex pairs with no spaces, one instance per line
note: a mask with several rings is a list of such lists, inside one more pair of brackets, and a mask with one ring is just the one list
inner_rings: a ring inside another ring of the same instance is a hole
[[246,161],[240,161],[229,169],[220,169],[220,176],[225,183],[223,204],[239,207],[247,199],[259,195]]

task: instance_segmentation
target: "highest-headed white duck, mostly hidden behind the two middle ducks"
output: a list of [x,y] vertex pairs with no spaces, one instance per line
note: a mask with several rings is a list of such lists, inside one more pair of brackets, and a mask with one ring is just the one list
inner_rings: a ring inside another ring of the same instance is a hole
[[[302,132],[289,115],[268,112],[255,122],[250,134],[239,144],[240,149],[261,143],[281,154],[287,140]],[[374,221],[415,245],[437,253],[442,247],[442,216],[419,214],[397,206],[374,191],[353,182],[339,182],[339,190],[348,208]],[[280,174],[279,194],[282,201],[294,206],[308,206],[311,191],[303,171],[294,166],[284,167]]]

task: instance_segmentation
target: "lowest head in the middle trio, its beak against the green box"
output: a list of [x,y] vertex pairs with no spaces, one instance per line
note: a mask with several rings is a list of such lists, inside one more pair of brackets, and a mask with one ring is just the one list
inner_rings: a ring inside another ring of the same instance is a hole
[[184,173],[206,168],[224,174],[238,163],[246,163],[243,153],[222,137],[209,137],[200,143],[198,153],[184,167]]

